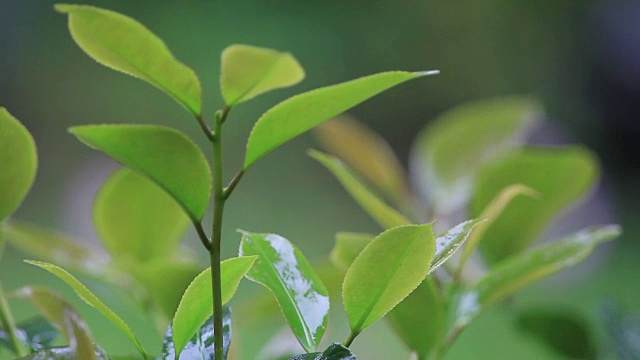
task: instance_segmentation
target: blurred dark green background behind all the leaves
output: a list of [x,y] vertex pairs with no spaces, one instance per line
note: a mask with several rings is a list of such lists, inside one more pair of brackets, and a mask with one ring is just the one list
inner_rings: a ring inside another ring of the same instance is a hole
[[[163,38],[176,57],[199,74],[209,117],[222,105],[219,54],[226,46],[272,47],[299,59],[307,71],[303,83],[234,109],[225,132],[228,169],[241,165],[253,122],[276,102],[374,72],[441,71],[394,88],[350,112],[381,133],[405,164],[415,134],[442,111],[490,96],[538,97],[548,117],[538,141],[586,144],[601,158],[601,188],[582,214],[591,214],[597,222],[621,223],[624,235],[599,249],[578,270],[537,284],[481,317],[448,358],[555,358],[519,332],[509,311],[512,307],[563,306],[594,324],[600,321],[603,303],[640,312],[640,2],[80,2],[132,16]],[[69,36],[66,18],[55,13],[52,5],[52,1],[36,0],[0,3],[0,105],[32,132],[40,161],[34,187],[14,217],[96,242],[92,198],[116,164],[81,145],[67,127],[164,124],[204,139],[197,123],[166,95],[83,54]],[[326,257],[337,231],[379,231],[330,174],[305,155],[309,147],[317,144],[307,134],[267,156],[245,176],[225,215],[227,257],[236,252],[237,228],[280,233],[314,259]],[[198,249],[194,234],[188,235],[187,243]],[[87,318],[98,343],[114,353],[133,351],[63,284],[21,263],[23,258],[7,249],[0,261],[0,279],[8,291],[25,283],[59,289]],[[134,330],[145,332],[149,320],[122,296],[89,284]],[[238,301],[256,289],[243,283]],[[32,314],[23,304],[14,306],[20,319]],[[271,335],[265,331],[247,332],[246,353],[255,354],[260,341]],[[346,335],[346,323],[338,320],[326,340],[343,341]],[[153,333],[142,336],[142,341],[152,349],[159,346]],[[368,329],[354,349],[363,359],[401,359],[407,354],[384,322]]]

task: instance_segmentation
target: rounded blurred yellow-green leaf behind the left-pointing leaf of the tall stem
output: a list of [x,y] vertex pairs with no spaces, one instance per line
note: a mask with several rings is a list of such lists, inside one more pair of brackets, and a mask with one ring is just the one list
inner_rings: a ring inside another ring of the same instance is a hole
[[189,218],[156,184],[124,168],[98,191],[93,222],[115,259],[149,261],[177,252]]

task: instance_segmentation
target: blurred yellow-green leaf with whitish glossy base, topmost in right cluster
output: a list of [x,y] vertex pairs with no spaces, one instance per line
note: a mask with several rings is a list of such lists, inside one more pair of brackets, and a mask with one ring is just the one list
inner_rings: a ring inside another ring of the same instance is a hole
[[464,206],[476,171],[520,144],[532,128],[536,103],[527,97],[493,98],[455,107],[417,137],[411,173],[437,213]]

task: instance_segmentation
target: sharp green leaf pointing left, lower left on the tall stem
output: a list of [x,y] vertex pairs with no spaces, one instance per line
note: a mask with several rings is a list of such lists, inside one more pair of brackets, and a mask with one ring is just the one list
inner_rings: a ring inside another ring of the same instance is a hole
[[136,170],[166,190],[199,221],[207,210],[211,171],[181,132],[154,125],[87,125],[69,129],[80,141]]

